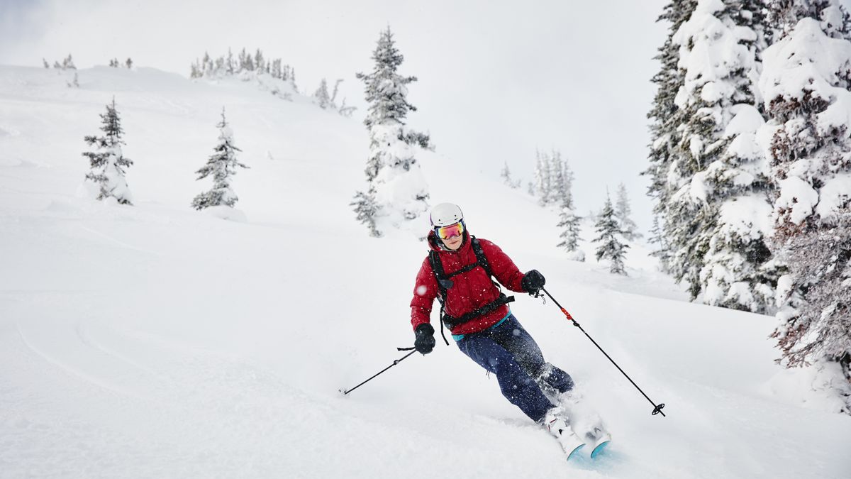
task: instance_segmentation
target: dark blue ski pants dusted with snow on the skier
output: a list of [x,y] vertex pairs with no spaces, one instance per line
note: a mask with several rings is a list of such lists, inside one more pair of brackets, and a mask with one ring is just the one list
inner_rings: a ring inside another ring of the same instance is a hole
[[456,341],[461,352],[496,375],[502,395],[534,421],[540,421],[553,407],[541,387],[555,393],[574,387],[567,372],[544,361],[538,343],[511,313],[485,331],[465,334]]

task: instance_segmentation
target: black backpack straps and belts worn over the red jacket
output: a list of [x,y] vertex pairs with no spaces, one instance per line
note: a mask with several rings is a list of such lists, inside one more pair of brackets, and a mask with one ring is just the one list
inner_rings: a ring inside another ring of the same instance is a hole
[[[460,268],[458,271],[455,271],[453,274],[446,274],[446,271],[443,269],[443,263],[440,262],[440,256],[437,254],[437,251],[431,250],[428,253],[428,260],[431,263],[431,270],[434,272],[434,276],[437,279],[437,301],[440,302],[440,334],[443,336],[443,341],[445,343],[449,343],[446,340],[446,336],[443,334],[443,325],[445,324],[449,331],[452,331],[452,328],[455,326],[459,326],[467,321],[474,320],[479,316],[487,315],[494,309],[499,308],[503,304],[511,303],[514,301],[513,296],[505,296],[505,293],[502,292],[502,288],[499,283],[494,281],[494,272],[490,269],[490,263],[488,263],[488,257],[485,256],[484,251],[482,249],[482,245],[479,243],[479,240],[475,236],[470,236],[470,245],[472,246],[473,252],[476,254],[476,263],[471,263],[466,265],[464,268]],[[455,318],[450,316],[446,312],[446,293],[449,288],[453,285],[453,282],[450,278],[455,276],[456,274],[466,273],[467,271],[471,271],[474,268],[481,267],[484,269],[485,273],[488,274],[488,278],[490,278],[491,282],[494,283],[498,289],[500,289],[500,297],[494,299],[491,303],[485,304],[483,307],[471,311],[465,315],[460,316],[460,318]]]

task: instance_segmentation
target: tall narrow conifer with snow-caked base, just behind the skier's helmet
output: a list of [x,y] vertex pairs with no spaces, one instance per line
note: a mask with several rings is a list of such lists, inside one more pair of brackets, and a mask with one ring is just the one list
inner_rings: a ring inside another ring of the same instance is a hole
[[[408,84],[415,77],[397,73],[404,57],[396,49],[388,26],[381,32],[372,56],[373,72],[357,73],[365,85],[369,113],[363,123],[369,130],[369,159],[365,170],[370,193],[355,196],[358,218],[386,216],[393,225],[412,220],[428,209],[428,187],[415,158],[415,146],[428,147],[427,135],[405,126],[409,111],[416,108],[408,103]],[[364,211],[363,198],[369,197],[374,208]],[[380,227],[377,228],[380,232]]]

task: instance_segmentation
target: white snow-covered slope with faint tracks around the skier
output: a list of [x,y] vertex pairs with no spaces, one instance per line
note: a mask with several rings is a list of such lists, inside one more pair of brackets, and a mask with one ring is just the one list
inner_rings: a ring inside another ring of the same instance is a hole
[[[454,346],[340,397],[412,343],[426,251],[353,221],[363,125],[254,82],[68,79],[0,66],[0,477],[849,476],[851,418],[773,392],[772,318],[687,303],[640,246],[629,278],[563,260],[557,216],[501,186],[501,160],[469,170],[439,150],[420,155],[432,204],[459,203],[473,234],[540,269],[668,417],[552,304],[519,296],[614,433],[596,462],[565,464]],[[112,95],[134,207],[78,195]],[[233,183],[247,222],[189,208],[221,107],[251,167]]]

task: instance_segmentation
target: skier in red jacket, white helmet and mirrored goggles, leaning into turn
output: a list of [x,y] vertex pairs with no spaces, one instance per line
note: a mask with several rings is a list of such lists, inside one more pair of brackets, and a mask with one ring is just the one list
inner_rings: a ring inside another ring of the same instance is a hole
[[[491,279],[494,276],[511,291],[536,294],[545,284],[543,274],[535,269],[522,274],[499,246],[471,236],[458,205],[437,205],[430,219],[431,250],[417,274],[411,300],[414,348],[423,355],[434,348],[429,316],[437,298],[442,305],[441,327],[447,326],[461,352],[493,372],[505,398],[556,436],[569,459],[585,443],[568,427],[565,409],[574,381],[544,361],[538,344],[508,308],[514,297],[506,297]],[[597,446],[597,437],[587,440]]]

